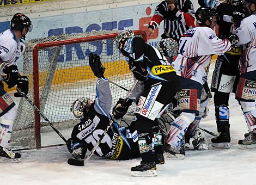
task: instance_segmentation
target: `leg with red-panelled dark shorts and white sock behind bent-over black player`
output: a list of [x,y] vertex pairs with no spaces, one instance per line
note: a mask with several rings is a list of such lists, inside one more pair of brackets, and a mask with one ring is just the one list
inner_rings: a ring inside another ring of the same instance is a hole
[[182,78],[180,88],[178,102],[181,113],[173,121],[164,145],[164,151],[168,152],[168,157],[171,158],[184,158],[185,151],[181,148],[182,138],[187,131],[187,127],[199,114],[200,107],[199,98],[202,91],[200,83]]

